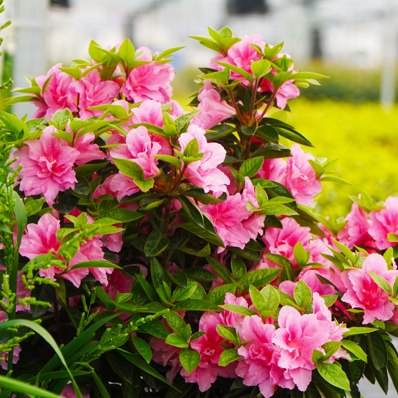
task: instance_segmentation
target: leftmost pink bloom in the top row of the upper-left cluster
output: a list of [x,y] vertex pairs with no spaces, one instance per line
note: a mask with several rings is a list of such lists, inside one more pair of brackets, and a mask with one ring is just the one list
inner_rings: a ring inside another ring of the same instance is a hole
[[38,76],[36,82],[40,88],[43,88],[44,83],[50,77],[50,81],[44,90],[43,98],[45,104],[34,101],[33,103],[39,107],[33,117],[44,117],[50,120],[55,112],[68,108],[71,112],[76,112],[77,93],[71,90],[71,84],[75,81],[73,77],[65,72],[60,71],[62,64],[54,65],[46,76]]

